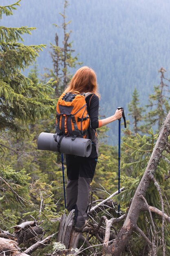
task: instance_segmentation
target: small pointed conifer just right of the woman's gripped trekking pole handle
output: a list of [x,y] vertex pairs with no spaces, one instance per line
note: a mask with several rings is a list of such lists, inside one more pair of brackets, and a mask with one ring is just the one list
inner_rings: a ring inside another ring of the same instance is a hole
[[141,130],[140,127],[138,126],[138,123],[142,121],[142,112],[144,111],[143,107],[139,107],[139,93],[136,88],[132,94],[132,101],[130,101],[130,103],[128,104],[128,110],[130,112],[129,115],[132,116],[133,130],[136,135],[137,132]]

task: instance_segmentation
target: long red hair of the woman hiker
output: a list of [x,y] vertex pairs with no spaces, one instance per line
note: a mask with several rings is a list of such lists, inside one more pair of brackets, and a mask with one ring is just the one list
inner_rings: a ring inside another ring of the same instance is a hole
[[77,70],[64,92],[93,92],[99,97],[97,88],[97,77],[94,70],[84,66]]

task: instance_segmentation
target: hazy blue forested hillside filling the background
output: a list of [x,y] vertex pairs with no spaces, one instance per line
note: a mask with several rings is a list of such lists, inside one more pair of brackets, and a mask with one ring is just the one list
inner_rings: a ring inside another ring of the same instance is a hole
[[[2,18],[1,25],[37,27],[32,36],[24,39],[28,45],[47,45],[37,59],[43,73],[44,67],[52,67],[49,44],[54,43],[56,31],[62,41],[62,29],[53,23],[62,23],[58,13],[63,10],[63,1],[22,0],[20,4],[13,17]],[[73,31],[73,49],[79,54],[79,61],[97,72],[101,114],[110,115],[117,106],[124,106],[127,113],[135,87],[142,105],[146,104],[153,85],[159,81],[158,69],[163,66],[168,73],[169,9],[168,0],[69,1],[66,16],[72,20],[69,29]]]

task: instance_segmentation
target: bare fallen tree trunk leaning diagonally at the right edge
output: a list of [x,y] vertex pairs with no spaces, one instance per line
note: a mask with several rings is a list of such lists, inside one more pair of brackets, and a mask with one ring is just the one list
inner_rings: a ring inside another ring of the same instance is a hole
[[142,205],[144,204],[144,201],[142,200],[141,195],[145,196],[146,194],[148,186],[152,180],[152,175],[155,173],[157,165],[159,164],[159,161],[161,159],[161,154],[163,153],[163,150],[165,150],[166,148],[166,143],[168,141],[169,134],[170,134],[170,112],[168,113],[166,120],[164,121],[161,127],[157,142],[155,144],[155,148],[148,162],[146,171],[132,199],[124,225],[121,227],[112,245],[107,247],[107,250],[104,252],[105,254],[111,253],[113,256],[121,255],[126,244],[128,243],[128,240],[133,230],[135,230],[139,213],[141,211]]

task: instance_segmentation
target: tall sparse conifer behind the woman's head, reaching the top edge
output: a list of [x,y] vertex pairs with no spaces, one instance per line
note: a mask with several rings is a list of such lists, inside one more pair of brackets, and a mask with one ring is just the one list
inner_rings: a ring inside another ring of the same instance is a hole
[[[49,70],[49,74],[45,74],[45,77],[50,77],[55,79],[54,89],[55,97],[59,97],[64,91],[68,82],[71,79],[70,68],[76,67],[81,63],[77,61],[77,55],[72,56],[74,49],[72,49],[72,43],[69,42],[71,36],[71,30],[67,31],[67,26],[71,23],[71,20],[66,22],[66,8],[68,7],[68,1],[64,1],[64,11],[60,13],[63,18],[62,29],[64,38],[62,41],[62,46],[59,46],[58,34],[55,34],[55,45],[51,43],[52,52],[51,58],[53,61],[53,70]],[[54,24],[56,28],[60,28],[57,24]]]

